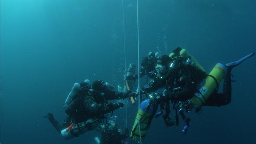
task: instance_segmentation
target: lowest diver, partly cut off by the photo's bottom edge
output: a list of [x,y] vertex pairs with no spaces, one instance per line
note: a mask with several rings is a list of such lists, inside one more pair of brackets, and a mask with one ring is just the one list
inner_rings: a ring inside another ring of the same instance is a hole
[[[112,116],[111,119],[116,117]],[[101,133],[101,138],[94,138],[96,144],[126,144],[125,139],[128,138],[128,129],[126,128],[123,133],[121,129],[117,129],[113,120],[109,120],[106,126],[102,124],[98,131]]]

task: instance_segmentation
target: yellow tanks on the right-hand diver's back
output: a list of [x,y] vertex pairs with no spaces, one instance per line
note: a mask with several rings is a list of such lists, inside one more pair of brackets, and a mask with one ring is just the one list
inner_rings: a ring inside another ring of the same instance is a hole
[[[204,68],[197,62],[197,60],[194,59],[194,57],[192,57],[192,56],[186,51],[186,49],[180,50],[180,55],[183,56],[183,57],[185,57],[185,59],[188,59],[188,58],[190,57],[190,59],[191,59],[191,65],[196,66],[196,67],[200,68],[202,71],[205,72]],[[177,55],[174,54],[173,52],[169,55],[169,57],[171,57],[171,58],[174,58],[174,57],[176,57],[176,56],[177,56]]]

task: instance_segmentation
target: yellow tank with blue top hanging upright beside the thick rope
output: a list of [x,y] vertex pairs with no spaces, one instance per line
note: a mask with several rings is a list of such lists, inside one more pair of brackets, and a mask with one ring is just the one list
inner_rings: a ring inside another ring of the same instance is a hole
[[132,132],[130,137],[133,140],[140,140],[139,137],[139,122],[140,122],[140,131],[141,131],[141,140],[147,135],[148,129],[151,124],[151,120],[154,117],[154,107],[150,104],[150,100],[147,99],[141,102],[139,106],[139,111],[137,113],[134,126],[132,127]]

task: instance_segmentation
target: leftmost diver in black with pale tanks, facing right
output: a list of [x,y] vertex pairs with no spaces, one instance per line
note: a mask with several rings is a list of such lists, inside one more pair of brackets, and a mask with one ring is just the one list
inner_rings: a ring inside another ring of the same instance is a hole
[[63,125],[54,119],[53,114],[48,113],[46,118],[50,120],[56,130],[66,140],[95,129],[105,118],[104,114],[110,113],[123,103],[108,103],[108,100],[127,98],[133,93],[116,92],[115,89],[104,81],[94,81],[91,86],[89,80],[75,83],[65,103],[67,118]]

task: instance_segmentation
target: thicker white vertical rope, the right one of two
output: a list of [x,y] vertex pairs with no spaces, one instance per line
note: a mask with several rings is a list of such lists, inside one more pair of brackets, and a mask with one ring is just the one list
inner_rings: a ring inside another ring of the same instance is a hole
[[[138,0],[137,0],[137,43],[138,43],[138,89],[139,89],[139,100],[138,100],[138,111],[139,111],[139,105],[140,105],[140,74],[139,74],[139,9],[138,9]],[[141,126],[140,126],[140,119],[138,120],[138,124],[139,124],[139,142],[140,144],[142,144],[141,142]]]

